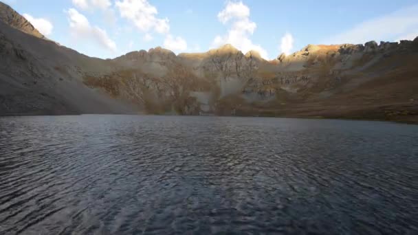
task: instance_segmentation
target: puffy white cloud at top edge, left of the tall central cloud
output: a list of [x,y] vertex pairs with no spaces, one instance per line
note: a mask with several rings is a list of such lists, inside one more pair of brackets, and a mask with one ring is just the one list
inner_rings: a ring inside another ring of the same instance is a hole
[[168,19],[157,18],[157,8],[146,0],[116,1],[120,16],[131,21],[142,32],[155,31],[167,34],[170,31]]

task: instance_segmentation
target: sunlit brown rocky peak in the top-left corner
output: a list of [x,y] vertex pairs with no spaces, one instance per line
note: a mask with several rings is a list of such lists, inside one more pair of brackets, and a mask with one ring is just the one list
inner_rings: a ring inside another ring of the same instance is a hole
[[4,23],[21,30],[37,38],[45,38],[25,17],[10,8],[9,5],[0,1],[0,20]]

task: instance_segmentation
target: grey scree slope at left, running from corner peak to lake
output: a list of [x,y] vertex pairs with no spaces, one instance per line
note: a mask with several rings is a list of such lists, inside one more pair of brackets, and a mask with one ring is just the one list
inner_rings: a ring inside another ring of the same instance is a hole
[[0,9],[0,115],[137,111],[84,85],[84,71],[108,72],[109,62],[45,40],[12,8]]

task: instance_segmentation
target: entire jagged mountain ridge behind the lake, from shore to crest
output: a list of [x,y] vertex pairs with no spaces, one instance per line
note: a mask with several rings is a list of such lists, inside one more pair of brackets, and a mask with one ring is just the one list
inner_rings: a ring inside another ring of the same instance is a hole
[[102,60],[0,3],[0,114],[159,113],[418,121],[418,38],[307,45],[274,60],[232,45]]

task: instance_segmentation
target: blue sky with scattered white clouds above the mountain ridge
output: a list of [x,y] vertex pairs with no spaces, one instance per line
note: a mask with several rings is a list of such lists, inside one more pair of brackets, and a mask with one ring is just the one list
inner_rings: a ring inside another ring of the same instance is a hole
[[226,43],[263,58],[308,44],[413,40],[418,0],[0,0],[61,45],[98,58]]

